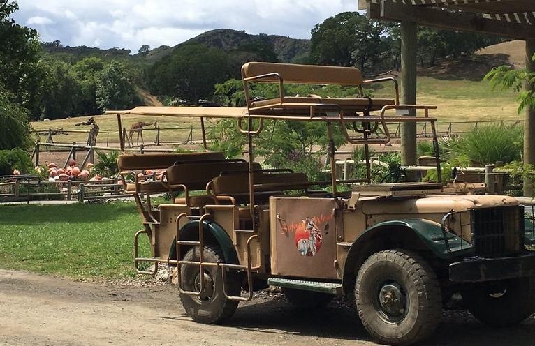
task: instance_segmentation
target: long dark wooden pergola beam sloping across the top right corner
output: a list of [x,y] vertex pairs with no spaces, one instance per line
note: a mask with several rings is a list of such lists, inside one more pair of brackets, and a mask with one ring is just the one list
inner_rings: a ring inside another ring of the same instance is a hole
[[390,1],[367,3],[368,15],[376,20],[393,22],[416,22],[426,27],[469,31],[486,35],[525,40],[535,38],[535,27],[529,24],[518,24],[478,17],[470,13],[455,13],[426,6],[404,5]]

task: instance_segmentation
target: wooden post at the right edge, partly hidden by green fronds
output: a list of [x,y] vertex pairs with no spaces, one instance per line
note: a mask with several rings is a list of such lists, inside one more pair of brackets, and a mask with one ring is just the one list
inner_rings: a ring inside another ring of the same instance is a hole
[[[528,72],[535,72],[535,61],[532,57],[535,54],[535,38],[526,40],[526,69]],[[533,84],[526,82],[526,91],[534,89]],[[524,164],[535,165],[535,110],[526,110],[524,116]],[[535,197],[533,179],[524,179],[524,195],[526,197]]]

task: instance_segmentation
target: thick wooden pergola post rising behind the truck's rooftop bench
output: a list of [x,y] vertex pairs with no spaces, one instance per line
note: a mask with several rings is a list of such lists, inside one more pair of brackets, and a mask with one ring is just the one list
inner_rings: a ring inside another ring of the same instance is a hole
[[[418,26],[414,22],[402,22],[402,100],[405,105],[416,104],[416,49]],[[409,115],[416,116],[414,110],[409,111]],[[401,124],[401,149],[402,166],[416,164],[416,123]],[[409,181],[413,181],[414,174],[409,174]]]

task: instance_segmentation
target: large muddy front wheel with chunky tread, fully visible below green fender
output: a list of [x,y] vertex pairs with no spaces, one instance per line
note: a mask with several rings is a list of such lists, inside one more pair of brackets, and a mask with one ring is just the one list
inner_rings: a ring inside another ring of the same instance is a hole
[[406,250],[368,257],[358,271],[355,300],[367,331],[388,345],[427,338],[441,318],[437,276],[423,257]]

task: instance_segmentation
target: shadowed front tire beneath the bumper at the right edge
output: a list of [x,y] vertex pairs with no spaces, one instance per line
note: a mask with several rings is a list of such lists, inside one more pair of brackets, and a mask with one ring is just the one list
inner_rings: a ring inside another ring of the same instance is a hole
[[519,324],[535,312],[534,294],[533,278],[515,278],[471,285],[462,291],[462,300],[479,321],[506,327]]

